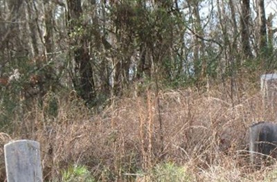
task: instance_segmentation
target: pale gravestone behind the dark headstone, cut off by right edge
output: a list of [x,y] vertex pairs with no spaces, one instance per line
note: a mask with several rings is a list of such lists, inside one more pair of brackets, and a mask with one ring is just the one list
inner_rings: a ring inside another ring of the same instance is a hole
[[277,74],[261,75],[260,87],[265,108],[275,111],[277,107]]

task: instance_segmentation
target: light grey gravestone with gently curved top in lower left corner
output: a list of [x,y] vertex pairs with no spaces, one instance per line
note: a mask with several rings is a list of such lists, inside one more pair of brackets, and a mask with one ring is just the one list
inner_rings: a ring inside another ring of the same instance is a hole
[[4,146],[8,182],[42,182],[39,143],[12,141]]

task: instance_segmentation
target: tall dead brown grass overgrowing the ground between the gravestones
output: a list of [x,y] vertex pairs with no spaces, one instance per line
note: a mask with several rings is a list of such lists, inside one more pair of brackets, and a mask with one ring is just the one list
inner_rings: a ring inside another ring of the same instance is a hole
[[[233,99],[230,92],[222,85],[205,93],[163,91],[158,105],[148,90],[113,100],[98,114],[78,98],[60,98],[56,118],[46,116],[47,105],[34,107],[12,122],[12,134],[0,134],[1,176],[3,145],[28,138],[41,144],[46,179],[59,181],[66,167],[82,164],[99,181],[149,181],[152,167],[166,161],[186,166],[193,181],[262,181],[269,168],[249,167],[247,129],[272,120],[274,111],[265,111],[256,87],[247,86]],[[145,176],[135,178],[139,171]]]

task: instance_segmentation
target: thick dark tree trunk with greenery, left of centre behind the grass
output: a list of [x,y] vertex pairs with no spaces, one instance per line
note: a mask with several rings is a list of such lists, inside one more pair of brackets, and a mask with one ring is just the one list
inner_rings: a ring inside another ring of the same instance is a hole
[[78,28],[85,28],[82,24],[82,7],[80,0],[68,0],[68,28],[71,38],[71,47],[73,47],[73,58],[75,61],[75,78],[73,84],[78,94],[84,99],[87,104],[93,106],[96,99],[95,83],[93,80],[93,70],[89,56],[89,45],[91,36],[85,33],[74,37],[75,31]]

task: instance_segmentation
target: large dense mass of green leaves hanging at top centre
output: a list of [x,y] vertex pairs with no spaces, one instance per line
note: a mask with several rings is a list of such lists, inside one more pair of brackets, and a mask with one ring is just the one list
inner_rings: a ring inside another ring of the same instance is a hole
[[[184,39],[179,34],[184,32],[185,22],[180,11],[171,9],[170,1],[157,4],[157,7],[152,7],[146,1],[124,1],[111,8],[110,16],[115,26],[131,37],[129,45],[148,51],[148,62],[152,57],[152,66],[157,68],[159,77],[166,82],[175,82],[184,76],[184,57],[181,57],[181,48],[178,47],[182,46]],[[137,60],[136,65],[140,61]]]

